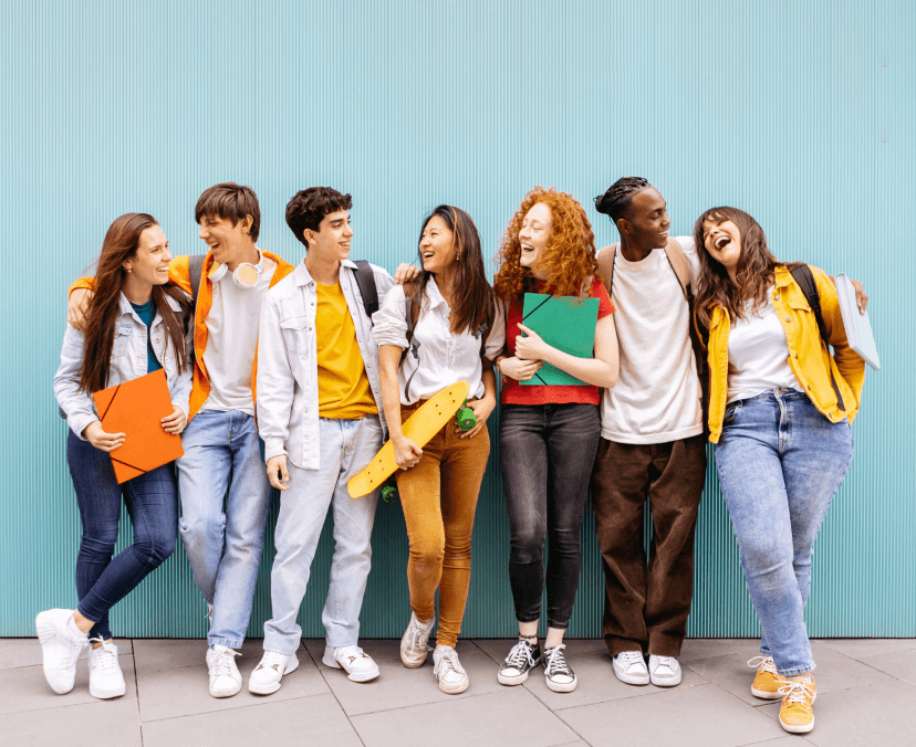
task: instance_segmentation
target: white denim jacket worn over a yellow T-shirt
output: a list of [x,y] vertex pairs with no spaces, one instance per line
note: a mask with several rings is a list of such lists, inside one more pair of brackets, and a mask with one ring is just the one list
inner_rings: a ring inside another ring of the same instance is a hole
[[[378,346],[372,320],[363,307],[356,284],[356,264],[344,260],[341,265],[343,290],[356,330],[372,394],[378,406],[383,439],[387,438],[382,388],[378,383]],[[394,278],[382,267],[372,265],[378,303],[394,286]],[[319,396],[315,311],[318,292],[305,262],[277,283],[264,296],[258,333],[257,402],[258,432],[264,441],[264,461],[285,454],[302,470],[318,470]]]

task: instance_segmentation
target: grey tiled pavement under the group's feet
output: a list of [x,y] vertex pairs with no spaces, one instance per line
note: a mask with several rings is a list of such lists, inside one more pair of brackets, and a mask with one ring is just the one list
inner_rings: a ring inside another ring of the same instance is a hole
[[[85,661],[76,686],[54,695],[41,671],[34,639],[0,639],[0,735],[3,744],[92,744],[93,747],[819,747],[916,745],[916,639],[821,640],[816,728],[787,735],[778,704],[750,694],[747,661],[757,642],[690,640],[681,655],[684,682],[663,690],[620,683],[601,641],[570,641],[579,675],[573,693],[558,694],[534,672],[521,687],[497,683],[511,646],[506,640],[461,641],[458,653],[471,678],[458,696],[436,686],[430,661],[400,664],[397,641],[364,641],[382,669],[366,684],[350,682],[321,663],[324,642],[305,640],[300,667],[269,697],[243,688],[236,697],[207,693],[201,641],[117,641],[127,695],[96,701]],[[261,641],[242,649],[239,669],[258,663]]]

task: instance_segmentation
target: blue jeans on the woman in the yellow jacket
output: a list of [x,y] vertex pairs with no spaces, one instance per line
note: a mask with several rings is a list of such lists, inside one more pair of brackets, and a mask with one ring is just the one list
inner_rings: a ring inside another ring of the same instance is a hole
[[793,389],[726,408],[716,466],[760,619],[760,653],[783,675],[814,669],[804,627],[811,555],[852,463],[847,420],[831,423]]

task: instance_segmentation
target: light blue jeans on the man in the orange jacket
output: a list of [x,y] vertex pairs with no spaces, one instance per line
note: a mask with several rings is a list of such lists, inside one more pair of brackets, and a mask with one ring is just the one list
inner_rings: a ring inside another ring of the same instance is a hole
[[262,442],[251,415],[201,410],[185,429],[181,445],[178,529],[194,582],[214,606],[207,641],[238,649],[251,617],[270,506]]

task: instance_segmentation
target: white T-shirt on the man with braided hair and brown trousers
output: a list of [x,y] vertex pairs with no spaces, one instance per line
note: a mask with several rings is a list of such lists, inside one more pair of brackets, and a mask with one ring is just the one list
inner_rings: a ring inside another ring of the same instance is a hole
[[[677,242],[690,265],[699,261],[690,236]],[[602,250],[610,251],[610,250]],[[702,433],[697,364],[690,345],[690,313],[664,249],[628,262],[620,249],[611,301],[616,308],[621,372],[604,390],[601,435],[617,443],[665,443]]]

